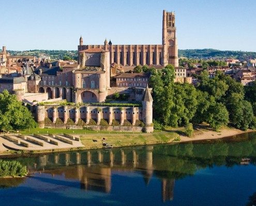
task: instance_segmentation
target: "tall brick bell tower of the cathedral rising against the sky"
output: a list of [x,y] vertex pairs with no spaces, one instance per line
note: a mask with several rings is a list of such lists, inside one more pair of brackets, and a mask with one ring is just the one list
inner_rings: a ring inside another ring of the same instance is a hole
[[163,56],[162,65],[168,63],[178,66],[178,45],[176,38],[175,13],[163,10],[162,44]]

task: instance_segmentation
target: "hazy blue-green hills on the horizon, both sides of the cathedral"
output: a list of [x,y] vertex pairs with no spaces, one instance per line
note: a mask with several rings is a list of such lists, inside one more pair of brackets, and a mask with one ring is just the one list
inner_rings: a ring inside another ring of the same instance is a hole
[[[78,59],[77,50],[27,50],[27,51],[13,51],[8,50],[11,55],[29,55],[29,56],[39,56],[39,54],[45,54],[46,56],[50,56],[51,59],[63,59],[64,56],[69,56],[75,60]],[[179,49],[178,50],[179,57],[186,58],[198,58],[198,59],[209,59],[209,58],[234,58],[239,59],[241,61],[246,61],[248,59],[255,59],[256,52],[242,52],[242,51],[222,51],[212,48],[205,49]]]

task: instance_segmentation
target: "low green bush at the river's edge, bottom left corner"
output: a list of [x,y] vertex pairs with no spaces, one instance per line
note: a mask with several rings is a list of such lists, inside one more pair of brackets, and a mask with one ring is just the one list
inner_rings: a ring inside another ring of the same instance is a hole
[[20,162],[0,159],[0,177],[23,177],[27,174],[27,167]]

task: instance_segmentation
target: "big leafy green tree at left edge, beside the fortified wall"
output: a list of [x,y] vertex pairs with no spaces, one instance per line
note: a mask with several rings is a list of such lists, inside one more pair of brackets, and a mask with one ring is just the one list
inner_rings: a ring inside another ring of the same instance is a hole
[[16,95],[4,90],[0,94],[0,129],[19,130],[34,128],[37,124],[28,109],[17,100]]

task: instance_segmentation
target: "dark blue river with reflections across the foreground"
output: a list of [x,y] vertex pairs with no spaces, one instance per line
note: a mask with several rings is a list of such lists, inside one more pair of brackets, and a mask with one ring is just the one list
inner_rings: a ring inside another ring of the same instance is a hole
[[17,158],[1,205],[256,205],[256,133]]

